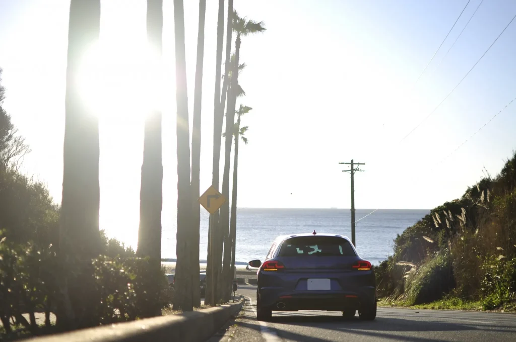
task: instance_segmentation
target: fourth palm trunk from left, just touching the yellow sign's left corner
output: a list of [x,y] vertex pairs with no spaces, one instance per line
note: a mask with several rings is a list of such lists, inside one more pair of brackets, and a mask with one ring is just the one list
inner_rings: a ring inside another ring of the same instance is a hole
[[193,126],[192,126],[192,220],[191,229],[191,291],[193,306],[201,306],[199,291],[199,229],[201,226],[201,206],[197,199],[200,195],[201,174],[201,99],[202,99],[202,67],[204,63],[204,22],[206,18],[206,0],[199,1],[199,33],[197,36],[197,65],[195,72],[195,90],[193,95]]

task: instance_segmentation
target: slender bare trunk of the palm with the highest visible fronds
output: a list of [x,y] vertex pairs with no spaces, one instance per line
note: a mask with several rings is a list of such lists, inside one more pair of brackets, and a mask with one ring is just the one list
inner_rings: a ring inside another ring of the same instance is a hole
[[[238,57],[240,53],[240,36],[237,35],[235,43],[235,64],[232,65],[233,71],[231,75],[230,99],[228,102],[228,111],[226,113],[226,127],[225,127],[225,160],[224,173],[222,176],[222,195],[229,198],[229,175],[231,164],[231,145],[233,144],[233,130],[235,126],[235,107],[236,94],[235,89],[238,84]],[[229,238],[229,202],[224,203],[220,209],[219,226],[224,236],[224,260],[222,279],[219,281],[220,288],[224,301],[228,301],[231,295],[231,284],[228,283],[229,269],[231,265],[231,242]]]

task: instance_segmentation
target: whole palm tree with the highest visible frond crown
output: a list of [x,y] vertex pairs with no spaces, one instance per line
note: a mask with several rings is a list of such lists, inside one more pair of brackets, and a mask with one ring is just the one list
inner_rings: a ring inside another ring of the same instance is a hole
[[[253,20],[248,20],[246,18],[240,18],[236,10],[233,11],[233,31],[236,32],[236,40],[235,40],[235,62],[232,63],[232,84],[238,84],[238,66],[239,66],[239,56],[240,56],[240,44],[241,37],[247,37],[254,33],[264,32],[266,30],[264,22],[255,22]],[[225,125],[225,160],[224,160],[224,173],[222,176],[222,195],[229,198],[229,174],[230,174],[230,163],[231,163],[231,145],[232,145],[232,130],[235,123],[235,107],[236,107],[236,95],[233,92],[237,91],[237,87],[231,87],[229,97],[231,99],[228,102],[228,113],[226,116],[226,125]],[[232,94],[233,93],[233,94]],[[231,292],[229,291],[231,287],[231,283],[227,282],[229,279],[229,266],[230,266],[230,258],[231,258],[231,243],[229,242],[229,202],[226,202],[220,208],[220,217],[219,217],[219,227],[224,236],[224,262],[226,265],[224,267],[225,271],[223,272],[225,276],[222,277],[219,282],[220,288],[223,289],[223,294],[225,299],[229,299]],[[225,252],[228,250],[228,252]]]

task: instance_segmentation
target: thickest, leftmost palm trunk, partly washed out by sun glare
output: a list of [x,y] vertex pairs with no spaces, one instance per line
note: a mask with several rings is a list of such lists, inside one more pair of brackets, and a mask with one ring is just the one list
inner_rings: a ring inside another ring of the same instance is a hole
[[[71,0],[63,143],[63,189],[59,224],[59,249],[63,257],[76,257],[85,264],[99,255],[99,120],[79,93],[80,64],[87,49],[99,39],[100,0]],[[58,324],[81,327],[76,322],[92,309],[82,301],[80,287],[60,279],[65,300],[58,307]],[[70,286],[70,288],[69,288]]]

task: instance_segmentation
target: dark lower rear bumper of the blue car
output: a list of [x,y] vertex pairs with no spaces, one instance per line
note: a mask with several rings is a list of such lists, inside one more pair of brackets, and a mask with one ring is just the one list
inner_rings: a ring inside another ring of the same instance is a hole
[[262,287],[259,290],[263,306],[272,310],[359,310],[362,305],[372,305],[376,301],[374,286],[363,286],[353,290],[339,292],[303,291],[285,292],[283,288]]

